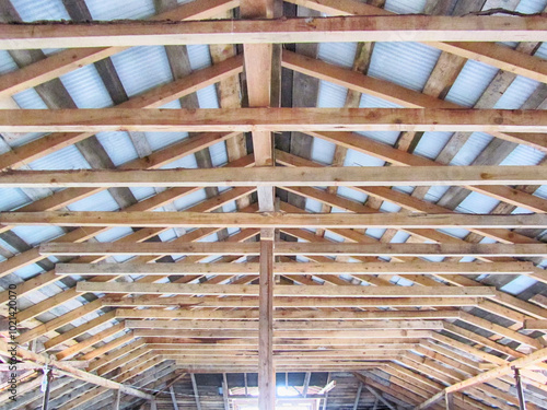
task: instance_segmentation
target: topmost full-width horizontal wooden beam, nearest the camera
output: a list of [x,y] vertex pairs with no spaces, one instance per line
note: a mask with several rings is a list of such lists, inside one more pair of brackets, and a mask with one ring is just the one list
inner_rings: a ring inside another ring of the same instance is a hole
[[324,42],[547,42],[544,17],[370,15],[2,24],[0,49]]

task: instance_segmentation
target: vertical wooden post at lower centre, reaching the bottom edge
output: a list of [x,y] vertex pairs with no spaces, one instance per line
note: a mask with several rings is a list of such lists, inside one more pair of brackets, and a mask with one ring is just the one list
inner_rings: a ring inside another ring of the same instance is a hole
[[[263,230],[264,231],[264,230]],[[274,368],[274,235],[260,235],[260,284],[258,324],[258,408],[276,408]]]

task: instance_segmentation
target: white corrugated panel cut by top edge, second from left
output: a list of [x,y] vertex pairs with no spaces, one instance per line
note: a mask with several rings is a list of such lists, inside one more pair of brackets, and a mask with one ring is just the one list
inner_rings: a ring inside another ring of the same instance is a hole
[[85,0],[94,20],[144,19],[155,14],[152,0]]

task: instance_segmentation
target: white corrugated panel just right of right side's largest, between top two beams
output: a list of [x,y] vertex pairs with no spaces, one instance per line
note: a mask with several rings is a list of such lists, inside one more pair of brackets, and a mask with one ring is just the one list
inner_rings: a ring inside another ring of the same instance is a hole
[[445,99],[464,107],[473,107],[497,73],[497,68],[468,60]]

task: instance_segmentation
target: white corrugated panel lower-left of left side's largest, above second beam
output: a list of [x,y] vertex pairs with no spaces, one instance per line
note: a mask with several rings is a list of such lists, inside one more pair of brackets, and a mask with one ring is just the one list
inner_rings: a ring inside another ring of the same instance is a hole
[[104,108],[114,105],[95,66],[84,66],[60,78],[78,108]]

